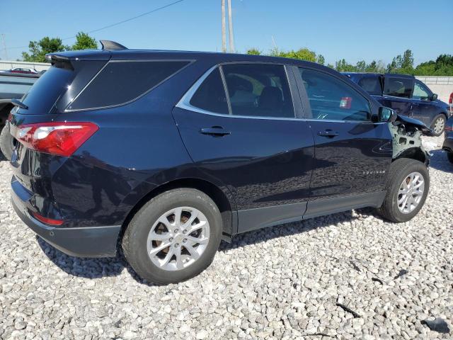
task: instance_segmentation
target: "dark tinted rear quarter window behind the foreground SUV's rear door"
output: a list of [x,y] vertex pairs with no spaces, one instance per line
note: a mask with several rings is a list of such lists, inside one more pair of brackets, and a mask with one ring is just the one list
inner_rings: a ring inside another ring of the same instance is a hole
[[185,67],[187,61],[108,62],[69,110],[103,108],[130,102]]

